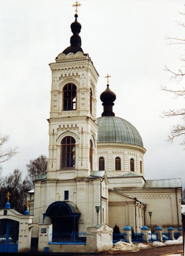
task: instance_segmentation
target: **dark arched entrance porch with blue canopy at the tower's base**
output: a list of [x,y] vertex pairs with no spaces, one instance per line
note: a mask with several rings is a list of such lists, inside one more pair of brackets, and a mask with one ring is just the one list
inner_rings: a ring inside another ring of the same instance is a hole
[[56,201],[50,204],[44,219],[46,217],[51,219],[53,232],[78,232],[80,213],[72,203]]

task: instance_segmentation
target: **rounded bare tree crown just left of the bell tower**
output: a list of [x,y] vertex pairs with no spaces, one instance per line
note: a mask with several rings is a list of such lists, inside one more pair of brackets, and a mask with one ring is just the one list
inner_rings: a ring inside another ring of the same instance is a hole
[[36,180],[38,177],[46,173],[47,170],[47,157],[46,156],[39,156],[37,159],[30,160],[29,165],[27,166],[28,176],[31,180]]

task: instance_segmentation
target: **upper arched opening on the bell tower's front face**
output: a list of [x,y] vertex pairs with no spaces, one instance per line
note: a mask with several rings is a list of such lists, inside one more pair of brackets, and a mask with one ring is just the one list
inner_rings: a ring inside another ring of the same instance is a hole
[[66,84],[63,87],[63,110],[76,109],[76,86],[74,84]]

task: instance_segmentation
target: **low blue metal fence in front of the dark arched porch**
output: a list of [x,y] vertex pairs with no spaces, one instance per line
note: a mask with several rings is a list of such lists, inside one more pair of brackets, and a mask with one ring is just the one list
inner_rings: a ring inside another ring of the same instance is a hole
[[52,243],[86,244],[86,232],[53,232]]

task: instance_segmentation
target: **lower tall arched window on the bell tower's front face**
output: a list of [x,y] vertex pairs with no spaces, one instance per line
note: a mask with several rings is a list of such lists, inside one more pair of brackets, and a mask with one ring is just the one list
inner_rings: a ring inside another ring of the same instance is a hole
[[60,168],[72,168],[75,165],[75,139],[67,136],[61,141]]

